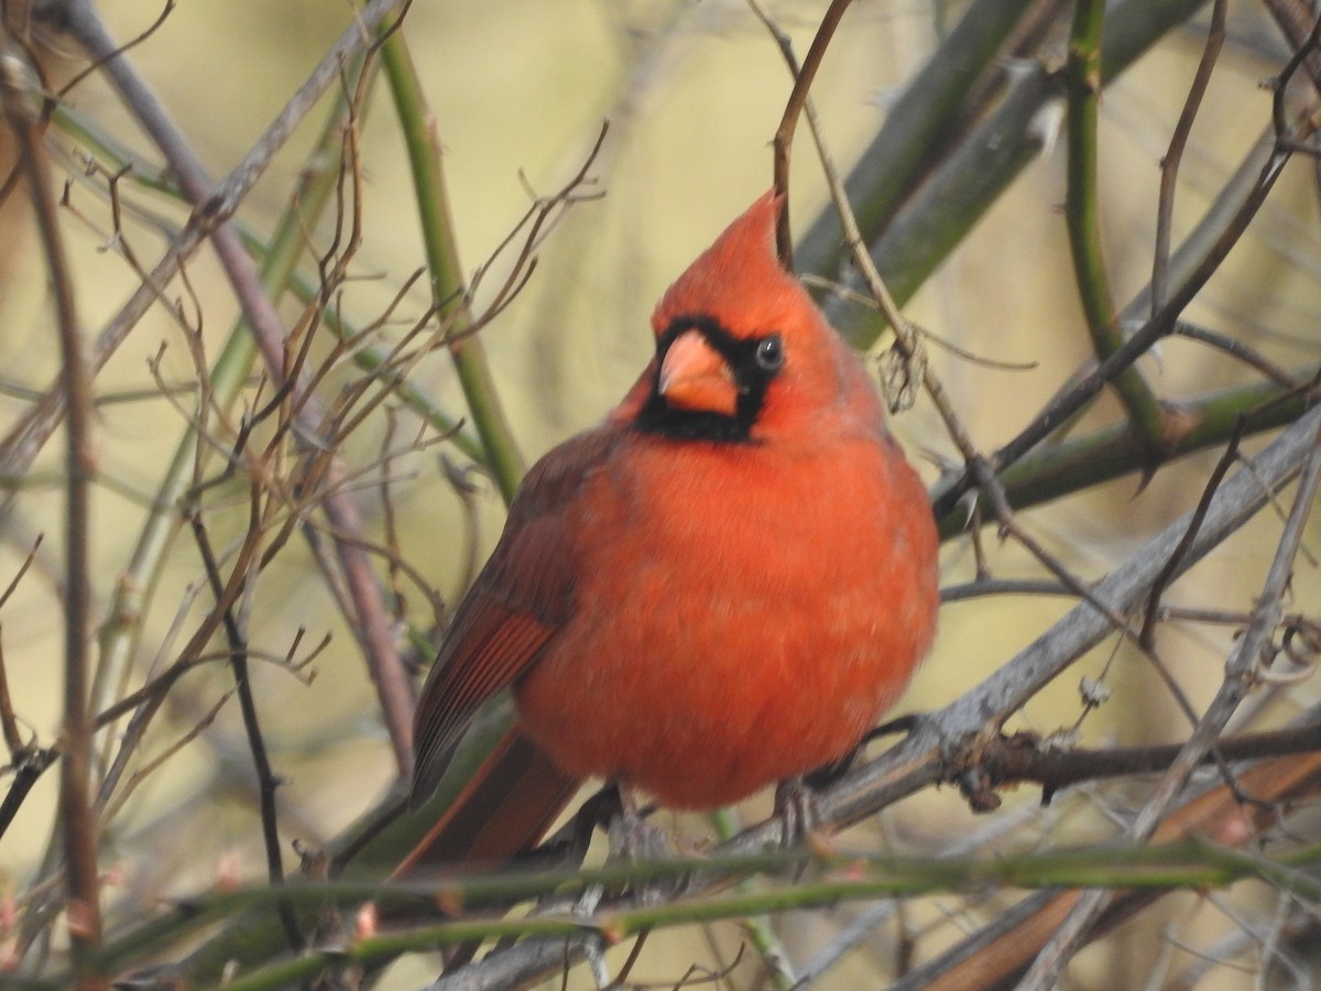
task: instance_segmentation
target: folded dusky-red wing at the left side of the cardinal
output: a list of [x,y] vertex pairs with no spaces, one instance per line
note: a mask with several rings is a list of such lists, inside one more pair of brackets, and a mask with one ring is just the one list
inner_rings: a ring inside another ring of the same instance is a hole
[[413,720],[413,806],[440,784],[477,710],[513,684],[568,621],[577,568],[571,510],[614,436],[608,428],[580,435],[523,480],[505,532],[423,686]]

